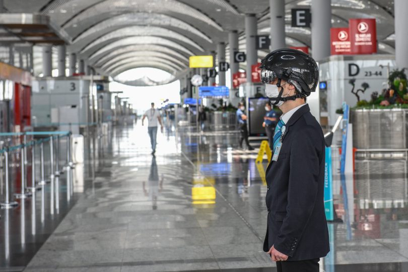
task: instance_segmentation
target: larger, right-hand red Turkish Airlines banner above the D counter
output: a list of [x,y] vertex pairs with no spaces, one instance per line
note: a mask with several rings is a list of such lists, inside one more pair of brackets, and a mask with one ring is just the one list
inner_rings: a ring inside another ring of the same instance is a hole
[[352,54],[377,53],[377,29],[375,19],[350,19]]

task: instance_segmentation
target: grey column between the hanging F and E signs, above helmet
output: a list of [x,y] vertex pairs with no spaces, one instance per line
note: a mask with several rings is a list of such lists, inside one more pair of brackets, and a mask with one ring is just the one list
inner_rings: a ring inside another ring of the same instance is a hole
[[285,0],[269,0],[270,49],[286,48]]

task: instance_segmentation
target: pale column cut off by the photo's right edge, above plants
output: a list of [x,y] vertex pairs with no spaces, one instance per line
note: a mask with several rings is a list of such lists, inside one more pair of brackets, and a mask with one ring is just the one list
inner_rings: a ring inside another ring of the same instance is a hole
[[408,69],[408,1],[394,1],[395,15],[395,61],[400,69]]

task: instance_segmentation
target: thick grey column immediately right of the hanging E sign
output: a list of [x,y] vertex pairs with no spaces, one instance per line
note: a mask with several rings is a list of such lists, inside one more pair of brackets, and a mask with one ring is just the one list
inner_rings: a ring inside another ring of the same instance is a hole
[[330,56],[330,4],[330,0],[312,0],[312,57],[316,61]]

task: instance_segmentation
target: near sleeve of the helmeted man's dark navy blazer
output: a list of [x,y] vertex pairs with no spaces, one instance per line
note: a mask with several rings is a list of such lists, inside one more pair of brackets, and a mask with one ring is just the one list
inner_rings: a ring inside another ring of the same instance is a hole
[[274,247],[293,256],[317,196],[321,137],[313,127],[300,132],[293,140],[290,154],[288,205]]

